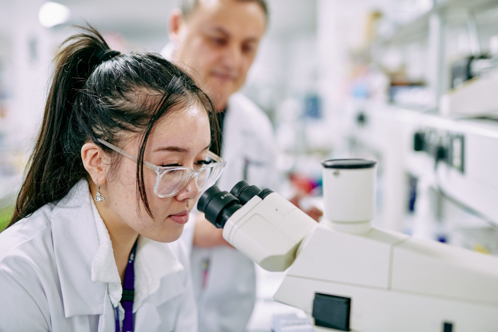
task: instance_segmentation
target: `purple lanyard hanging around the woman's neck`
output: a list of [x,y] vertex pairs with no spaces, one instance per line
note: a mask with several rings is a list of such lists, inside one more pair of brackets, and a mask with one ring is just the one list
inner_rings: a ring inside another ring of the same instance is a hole
[[[135,251],[137,242],[138,239],[135,241],[135,244],[133,244],[133,248],[131,249],[128,258],[128,264],[126,265],[126,270],[124,271],[123,297],[121,298],[124,309],[124,332],[133,332],[133,296],[135,292],[135,271],[133,270],[133,264],[135,262]],[[119,305],[118,307],[116,307],[116,332],[121,332]]]

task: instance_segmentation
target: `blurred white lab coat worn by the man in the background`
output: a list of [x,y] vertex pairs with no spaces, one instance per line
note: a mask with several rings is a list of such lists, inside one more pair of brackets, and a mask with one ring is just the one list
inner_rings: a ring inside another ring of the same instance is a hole
[[[261,189],[276,189],[279,181],[271,123],[266,114],[241,93],[232,95],[228,103],[222,151],[227,160],[217,183],[222,190],[230,191],[241,180]],[[193,224],[181,237],[190,245]],[[209,268],[204,281],[206,261]],[[245,331],[255,302],[254,263],[237,249],[219,246],[193,247],[191,265],[199,331]]]

